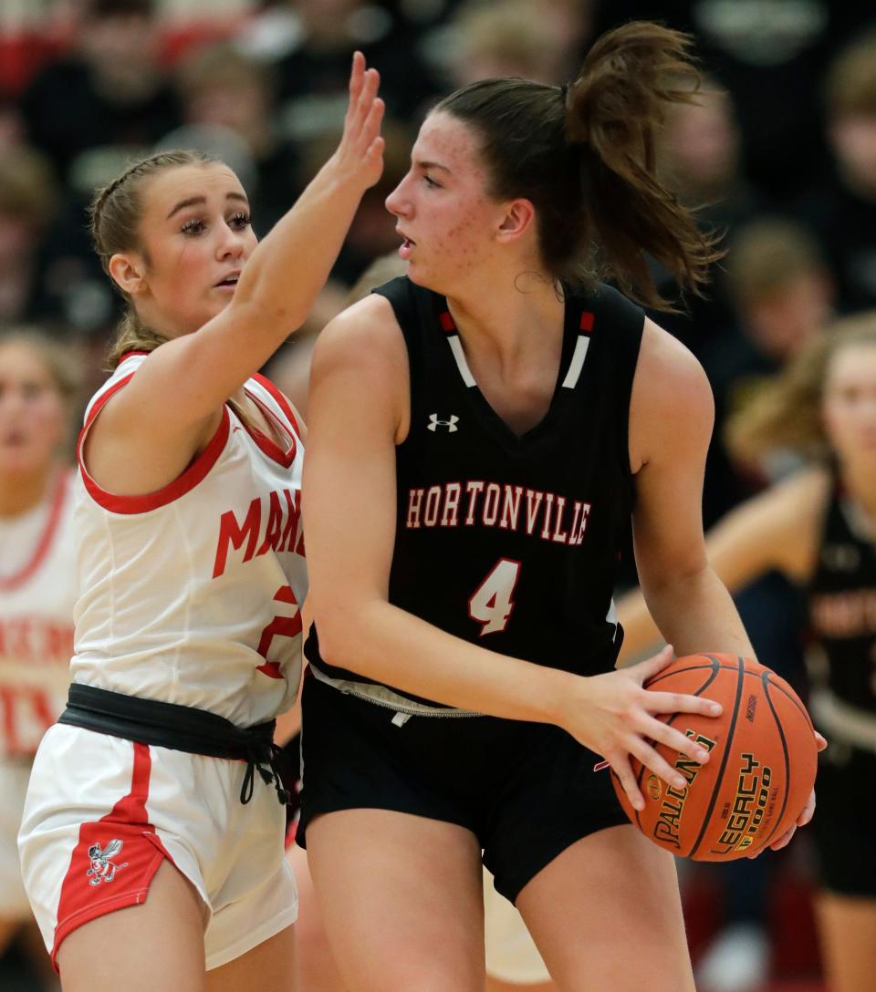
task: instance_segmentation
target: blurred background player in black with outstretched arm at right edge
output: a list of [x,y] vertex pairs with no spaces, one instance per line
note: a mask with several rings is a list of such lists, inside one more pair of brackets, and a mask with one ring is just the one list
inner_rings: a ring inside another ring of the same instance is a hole
[[[734,591],[773,569],[806,591],[816,661],[826,662],[812,673],[811,694],[830,741],[813,830],[826,977],[831,992],[868,992],[876,974],[876,311],[825,332],[729,427],[748,461],[778,448],[814,456],[728,515],[707,548]],[[622,657],[658,642],[640,595],[618,612]]]

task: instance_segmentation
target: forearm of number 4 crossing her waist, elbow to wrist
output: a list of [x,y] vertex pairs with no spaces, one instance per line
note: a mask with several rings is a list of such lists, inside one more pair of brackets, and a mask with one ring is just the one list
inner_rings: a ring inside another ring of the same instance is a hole
[[320,616],[326,661],[401,692],[506,719],[560,723],[576,676],[485,650],[374,600]]

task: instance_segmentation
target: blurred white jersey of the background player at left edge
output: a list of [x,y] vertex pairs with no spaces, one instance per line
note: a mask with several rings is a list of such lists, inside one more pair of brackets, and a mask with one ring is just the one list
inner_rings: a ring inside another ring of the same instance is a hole
[[67,701],[75,604],[73,473],[0,520],[0,758],[33,755]]

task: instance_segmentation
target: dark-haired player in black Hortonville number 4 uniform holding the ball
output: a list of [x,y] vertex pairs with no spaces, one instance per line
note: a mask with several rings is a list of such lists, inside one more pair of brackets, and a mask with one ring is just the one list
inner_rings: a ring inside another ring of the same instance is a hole
[[560,989],[692,992],[672,859],[594,771],[640,807],[630,754],[682,787],[651,742],[706,755],[657,714],[717,709],[643,688],[668,650],[613,671],[631,513],[678,650],[751,646],[703,551],[705,377],[580,278],[598,239],[644,302],[645,252],[702,279],[651,169],[675,71],[684,37],[631,24],[569,87],[441,101],[386,201],[407,278],[317,344],[299,835],[352,992],[481,992],[482,851]]

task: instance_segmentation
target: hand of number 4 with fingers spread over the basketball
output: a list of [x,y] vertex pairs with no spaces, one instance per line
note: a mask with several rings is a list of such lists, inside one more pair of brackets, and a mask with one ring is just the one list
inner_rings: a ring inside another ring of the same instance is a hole
[[699,713],[719,716],[721,705],[697,695],[660,692],[644,687],[672,661],[672,649],[663,650],[639,665],[582,678],[564,706],[561,726],[577,741],[605,758],[617,774],[635,809],[645,800],[630,764],[634,755],[646,768],[674,789],[687,785],[653,746],[665,744],[672,751],[704,764],[709,753],[691,738],[657,719],[661,713]]

